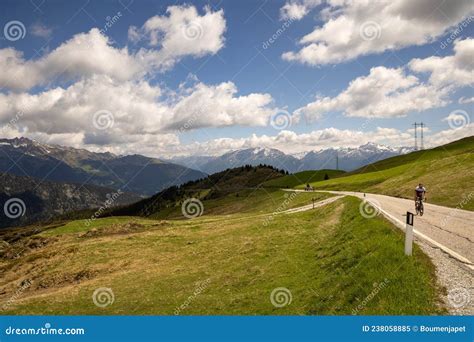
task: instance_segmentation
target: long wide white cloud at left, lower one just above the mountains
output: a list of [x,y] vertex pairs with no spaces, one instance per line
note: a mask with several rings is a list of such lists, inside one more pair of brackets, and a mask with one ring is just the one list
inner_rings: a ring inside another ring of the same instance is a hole
[[[196,83],[168,94],[146,81],[117,81],[95,75],[67,88],[38,94],[0,93],[0,124],[22,113],[18,125],[31,133],[86,133],[84,143],[120,142],[133,134],[164,134],[172,130],[232,125],[264,126],[275,112],[268,94],[237,96],[232,82]],[[96,113],[113,125],[100,129]],[[112,118],[107,118],[107,113]],[[54,122],[54,125],[51,123]]]

